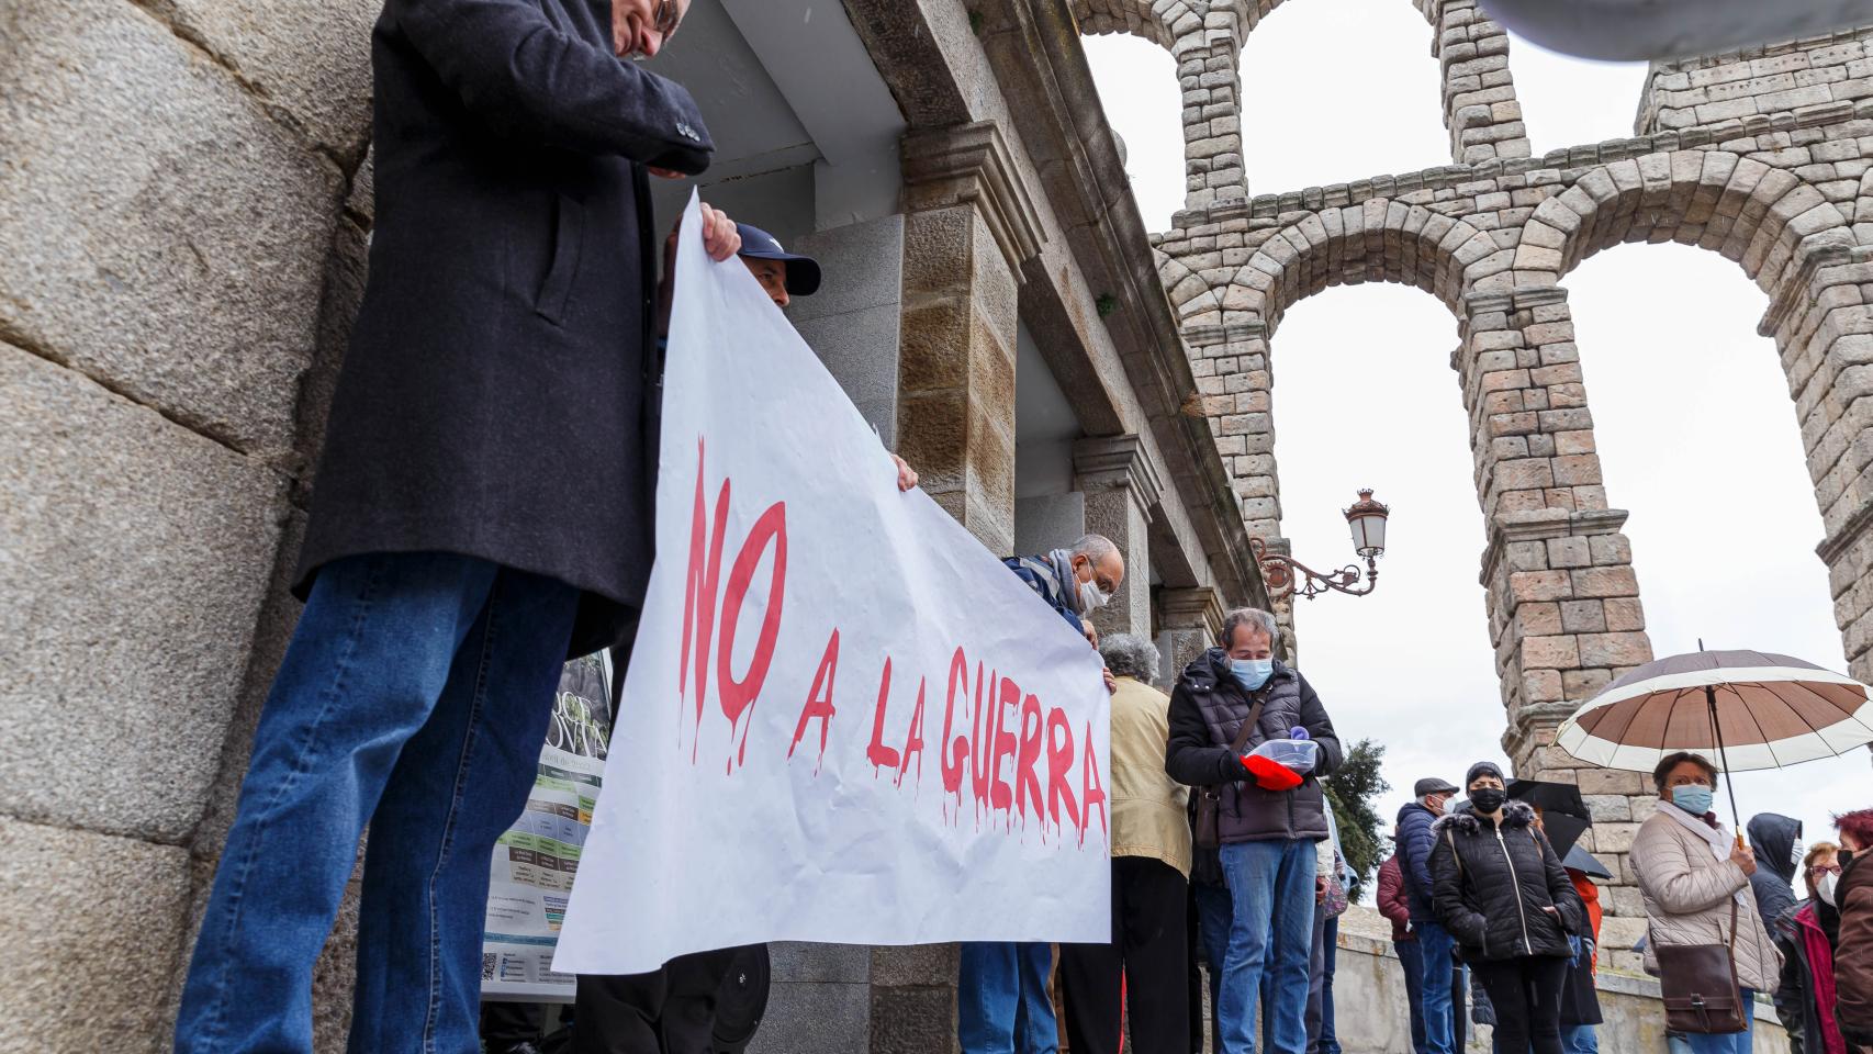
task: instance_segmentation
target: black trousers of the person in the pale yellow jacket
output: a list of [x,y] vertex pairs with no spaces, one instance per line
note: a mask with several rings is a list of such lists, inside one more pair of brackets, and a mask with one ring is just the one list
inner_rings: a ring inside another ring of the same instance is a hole
[[1169,863],[1113,857],[1113,942],[1060,945],[1073,1054],[1116,1054],[1120,983],[1137,1054],[1189,1054],[1189,882]]

